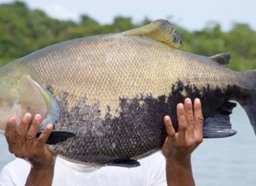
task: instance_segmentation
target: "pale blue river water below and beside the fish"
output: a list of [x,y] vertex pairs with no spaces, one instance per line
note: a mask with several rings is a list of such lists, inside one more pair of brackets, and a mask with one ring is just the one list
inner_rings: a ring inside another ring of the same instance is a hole
[[[255,113],[256,114],[256,113]],[[232,114],[229,138],[207,139],[192,155],[196,185],[256,185],[256,137],[245,111],[238,105]],[[0,135],[0,170],[15,157],[8,153],[5,137]]]

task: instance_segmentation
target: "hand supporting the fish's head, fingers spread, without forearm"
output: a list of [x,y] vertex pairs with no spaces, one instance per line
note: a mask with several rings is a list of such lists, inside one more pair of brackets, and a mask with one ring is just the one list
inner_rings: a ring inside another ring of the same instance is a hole
[[36,138],[41,122],[40,115],[35,115],[31,121],[30,113],[26,113],[17,129],[14,117],[9,119],[5,129],[10,153],[15,154],[18,158],[27,159],[35,169],[46,168],[55,162],[55,155],[46,148],[46,141],[53,126],[47,125],[39,138]]

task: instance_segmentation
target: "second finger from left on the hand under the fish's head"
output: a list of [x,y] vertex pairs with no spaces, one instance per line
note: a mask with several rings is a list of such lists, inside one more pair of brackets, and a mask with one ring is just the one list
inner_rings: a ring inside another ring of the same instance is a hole
[[22,120],[18,126],[18,129],[15,132],[15,137],[16,137],[16,140],[18,141],[19,145],[23,145],[23,143],[25,141],[25,137],[26,137],[28,127],[30,125],[30,121],[31,121],[31,114],[26,113],[22,117]]

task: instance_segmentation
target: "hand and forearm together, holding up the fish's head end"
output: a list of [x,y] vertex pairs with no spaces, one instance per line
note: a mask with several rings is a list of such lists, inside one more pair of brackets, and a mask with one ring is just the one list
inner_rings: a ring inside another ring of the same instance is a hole
[[51,185],[53,180],[55,155],[46,148],[46,141],[53,126],[47,125],[39,138],[36,138],[41,121],[41,116],[36,115],[31,123],[31,115],[27,113],[18,129],[15,129],[14,117],[11,117],[6,125],[5,136],[10,152],[31,163],[26,185]]

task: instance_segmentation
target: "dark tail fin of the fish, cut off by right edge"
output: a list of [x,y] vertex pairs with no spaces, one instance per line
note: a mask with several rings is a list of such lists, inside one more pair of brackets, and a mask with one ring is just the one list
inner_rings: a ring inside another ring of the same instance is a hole
[[245,109],[256,135],[256,70],[243,71],[242,75],[245,77],[246,82],[248,82],[247,86],[249,86],[249,88],[246,91],[246,99],[242,100],[240,104],[243,109]]

